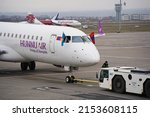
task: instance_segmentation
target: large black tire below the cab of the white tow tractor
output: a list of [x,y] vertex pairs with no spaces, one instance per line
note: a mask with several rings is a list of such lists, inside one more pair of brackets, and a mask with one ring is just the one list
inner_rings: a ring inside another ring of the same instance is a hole
[[122,76],[115,76],[112,81],[112,90],[117,93],[125,93],[125,81]]

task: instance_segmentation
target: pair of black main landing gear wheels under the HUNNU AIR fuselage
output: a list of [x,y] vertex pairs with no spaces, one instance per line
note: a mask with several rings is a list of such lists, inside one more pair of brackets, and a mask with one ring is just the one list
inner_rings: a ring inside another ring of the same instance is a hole
[[22,71],[26,71],[29,67],[29,70],[35,70],[35,67],[36,67],[36,64],[34,61],[31,61],[31,62],[21,62],[20,64],[21,66],[21,70]]

